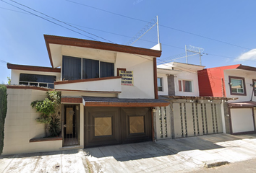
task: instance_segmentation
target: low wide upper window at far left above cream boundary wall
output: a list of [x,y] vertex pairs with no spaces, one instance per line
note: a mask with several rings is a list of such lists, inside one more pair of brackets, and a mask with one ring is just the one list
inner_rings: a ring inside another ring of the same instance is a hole
[[56,76],[20,74],[19,84],[30,86],[43,86],[54,89],[54,81],[56,81]]

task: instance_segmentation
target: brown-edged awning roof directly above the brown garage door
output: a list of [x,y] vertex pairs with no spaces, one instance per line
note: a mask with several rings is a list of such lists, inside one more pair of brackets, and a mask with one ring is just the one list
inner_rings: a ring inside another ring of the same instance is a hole
[[116,97],[85,97],[82,96],[85,107],[165,107],[169,105],[161,99],[119,99]]

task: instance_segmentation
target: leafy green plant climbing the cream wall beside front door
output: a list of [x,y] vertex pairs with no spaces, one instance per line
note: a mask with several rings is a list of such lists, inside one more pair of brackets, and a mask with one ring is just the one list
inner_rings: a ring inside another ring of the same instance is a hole
[[61,92],[48,91],[46,94],[46,99],[35,100],[31,102],[31,106],[41,113],[40,117],[36,118],[36,121],[45,124],[46,134],[48,129],[51,136],[57,136],[60,132],[60,123],[56,110],[58,110],[61,103]]

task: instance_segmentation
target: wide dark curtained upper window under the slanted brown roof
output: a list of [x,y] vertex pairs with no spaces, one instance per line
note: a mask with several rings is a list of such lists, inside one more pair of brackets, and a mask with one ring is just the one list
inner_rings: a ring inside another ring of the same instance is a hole
[[63,56],[62,80],[92,79],[114,76],[114,63]]

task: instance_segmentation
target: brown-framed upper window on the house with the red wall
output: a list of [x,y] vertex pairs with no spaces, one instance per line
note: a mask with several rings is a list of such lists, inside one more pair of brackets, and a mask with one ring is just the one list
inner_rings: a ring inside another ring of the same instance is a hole
[[229,86],[231,95],[246,95],[244,78],[229,76]]

